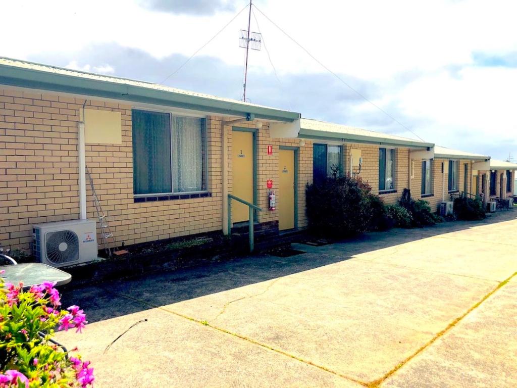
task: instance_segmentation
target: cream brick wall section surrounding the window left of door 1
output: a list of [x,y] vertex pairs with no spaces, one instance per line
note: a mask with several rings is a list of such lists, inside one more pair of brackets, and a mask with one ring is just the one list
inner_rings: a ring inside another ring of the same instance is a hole
[[[3,246],[26,249],[35,223],[79,218],[77,123],[83,104],[121,113],[121,145],[86,144],[86,164],[119,245],[221,229],[220,120],[207,119],[212,197],[134,203],[130,105],[0,89]],[[90,190],[87,217],[96,218]]]

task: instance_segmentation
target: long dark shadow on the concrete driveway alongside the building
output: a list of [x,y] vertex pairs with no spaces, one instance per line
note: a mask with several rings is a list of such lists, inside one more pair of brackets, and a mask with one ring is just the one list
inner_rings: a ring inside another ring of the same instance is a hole
[[423,229],[392,229],[366,233],[321,247],[297,244],[296,248],[305,250],[306,253],[286,258],[269,255],[241,257],[202,267],[153,273],[65,290],[62,302],[65,307],[72,304],[81,306],[88,321],[92,323],[308,271],[348,260],[359,253],[515,218],[517,212],[506,211],[493,214],[483,221],[445,222]]

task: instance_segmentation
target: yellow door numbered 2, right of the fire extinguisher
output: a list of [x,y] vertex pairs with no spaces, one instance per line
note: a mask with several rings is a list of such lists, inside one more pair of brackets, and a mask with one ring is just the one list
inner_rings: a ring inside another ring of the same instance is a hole
[[294,228],[294,150],[278,153],[278,229]]

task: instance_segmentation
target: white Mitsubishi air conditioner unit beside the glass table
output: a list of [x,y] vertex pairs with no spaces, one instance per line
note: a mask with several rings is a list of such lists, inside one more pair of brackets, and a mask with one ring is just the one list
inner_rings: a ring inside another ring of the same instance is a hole
[[33,255],[40,263],[62,267],[97,259],[95,220],[33,225]]

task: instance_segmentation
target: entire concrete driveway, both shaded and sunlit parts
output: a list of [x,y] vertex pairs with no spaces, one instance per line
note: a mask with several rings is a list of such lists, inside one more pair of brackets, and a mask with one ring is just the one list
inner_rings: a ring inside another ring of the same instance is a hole
[[516,231],[509,211],[67,291],[90,323],[58,340],[98,387],[513,387]]

